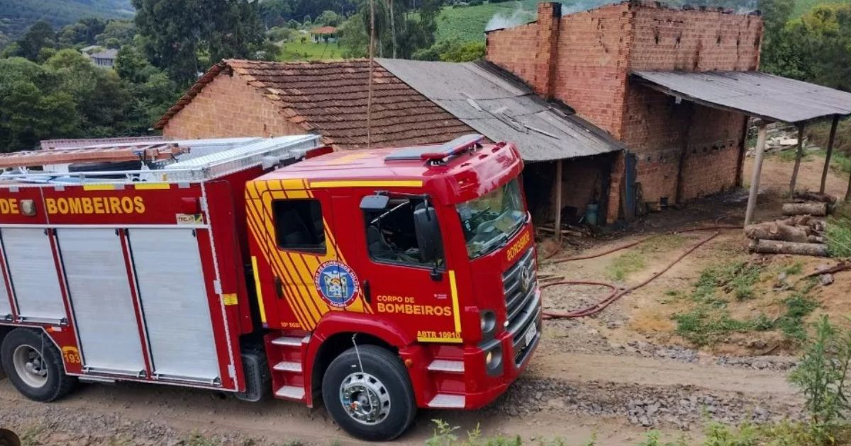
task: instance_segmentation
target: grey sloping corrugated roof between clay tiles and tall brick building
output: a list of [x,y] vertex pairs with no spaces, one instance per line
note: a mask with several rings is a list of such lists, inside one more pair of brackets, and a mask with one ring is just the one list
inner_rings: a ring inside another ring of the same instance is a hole
[[403,59],[378,59],[378,63],[488,139],[517,144],[524,161],[624,149],[608,133],[545,102],[493,67]]

